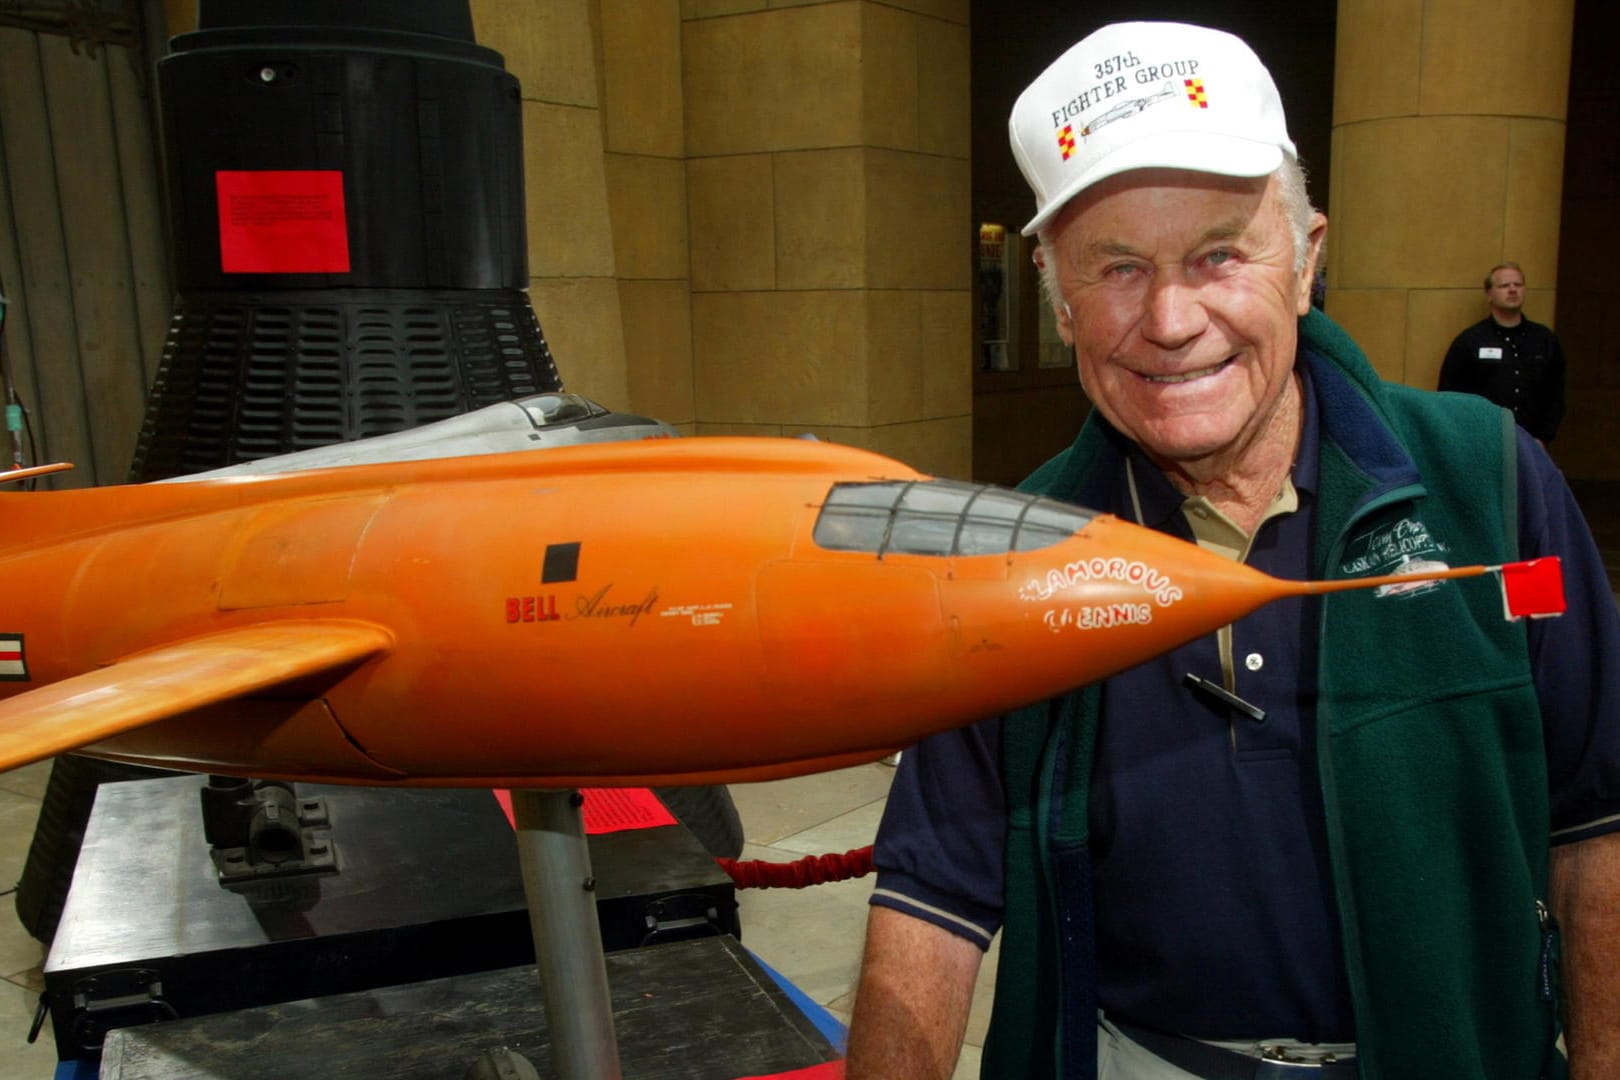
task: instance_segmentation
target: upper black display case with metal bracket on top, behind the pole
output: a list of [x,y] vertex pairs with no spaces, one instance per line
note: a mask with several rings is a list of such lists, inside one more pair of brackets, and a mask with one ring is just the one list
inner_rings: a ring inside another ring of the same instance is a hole
[[[228,891],[204,782],[97,792],[44,970],[60,1059],[94,1061],[117,1027],[533,962],[517,842],[488,790],[298,785],[327,806],[337,873]],[[685,827],[590,852],[606,949],[737,934],[732,882]]]

